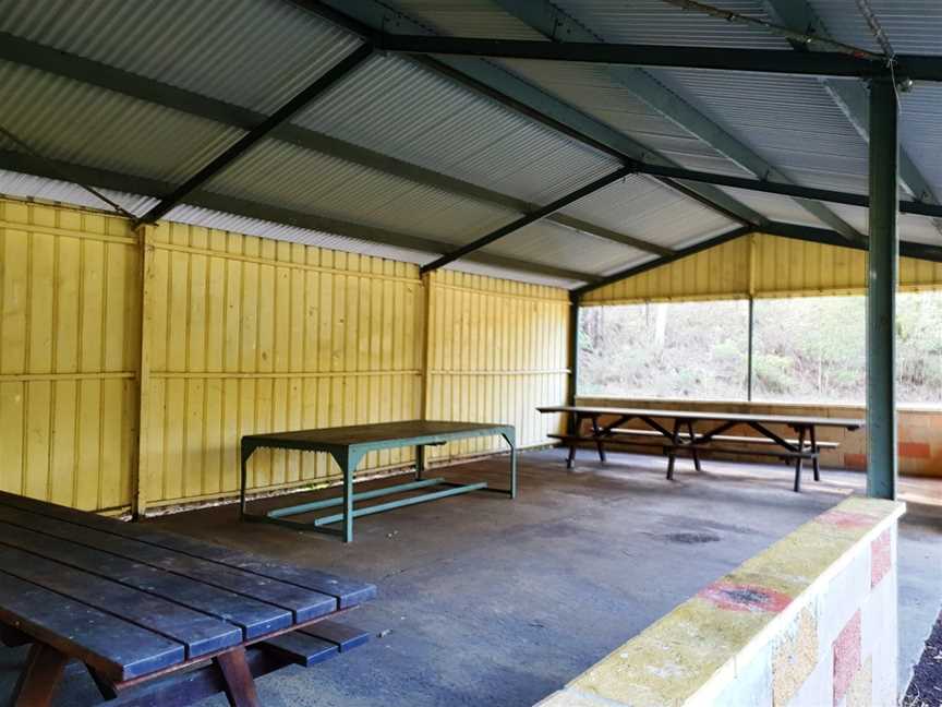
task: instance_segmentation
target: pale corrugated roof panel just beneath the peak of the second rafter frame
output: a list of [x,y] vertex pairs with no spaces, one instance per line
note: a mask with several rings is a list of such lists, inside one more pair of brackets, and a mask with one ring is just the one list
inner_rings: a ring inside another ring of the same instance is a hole
[[736,226],[720,214],[642,176],[623,179],[564,211],[666,248]]

